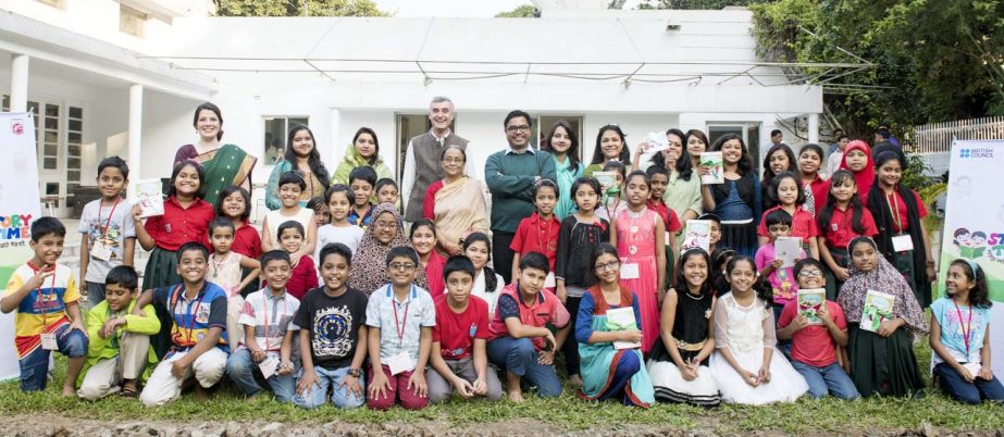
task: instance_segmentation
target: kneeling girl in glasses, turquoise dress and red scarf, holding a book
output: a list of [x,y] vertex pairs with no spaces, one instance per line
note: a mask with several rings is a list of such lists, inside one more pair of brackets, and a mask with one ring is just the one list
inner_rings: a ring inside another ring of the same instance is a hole
[[[639,298],[620,280],[621,261],[617,248],[600,244],[593,251],[592,260],[599,282],[582,296],[575,322],[583,375],[579,397],[600,401],[616,399],[625,405],[648,408],[655,402],[652,380],[642,351],[632,347],[644,345]],[[617,310],[628,309],[630,317],[611,315]]]

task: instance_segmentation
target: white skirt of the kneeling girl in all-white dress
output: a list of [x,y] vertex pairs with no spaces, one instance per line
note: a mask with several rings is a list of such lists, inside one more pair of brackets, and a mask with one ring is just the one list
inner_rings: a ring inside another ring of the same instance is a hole
[[[764,362],[764,350],[743,353],[732,349],[732,355],[739,365],[757,373]],[[793,402],[808,391],[805,378],[792,367],[780,350],[774,348],[770,358],[770,383],[753,387],[722,357],[721,352],[711,354],[711,376],[721,390],[721,400],[727,403],[763,405],[774,402]],[[653,379],[655,380],[655,379]]]

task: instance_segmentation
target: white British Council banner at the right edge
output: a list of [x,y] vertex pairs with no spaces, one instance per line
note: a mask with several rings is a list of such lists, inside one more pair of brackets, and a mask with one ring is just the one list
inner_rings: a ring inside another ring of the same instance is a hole
[[[944,238],[941,242],[941,280],[956,259],[978,263],[987,274],[994,375],[1004,375],[1004,140],[965,140],[952,145]],[[942,284],[941,289],[944,289]]]

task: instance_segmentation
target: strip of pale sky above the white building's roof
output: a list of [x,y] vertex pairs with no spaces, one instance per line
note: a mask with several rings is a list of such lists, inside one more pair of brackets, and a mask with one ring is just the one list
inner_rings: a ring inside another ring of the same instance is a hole
[[[444,17],[489,17],[511,11],[530,0],[375,0],[383,11],[397,13],[394,16],[444,16]],[[640,0],[628,0],[624,9],[631,9]]]

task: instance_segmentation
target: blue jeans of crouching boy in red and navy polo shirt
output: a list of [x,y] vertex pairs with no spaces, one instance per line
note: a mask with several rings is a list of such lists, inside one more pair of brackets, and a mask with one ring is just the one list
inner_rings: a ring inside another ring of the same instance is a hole
[[499,337],[488,341],[487,349],[492,364],[525,378],[530,385],[537,387],[537,395],[545,398],[561,396],[561,383],[554,364],[537,363],[537,351],[529,338]]

